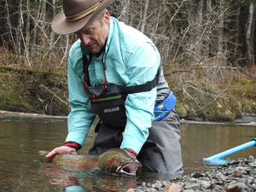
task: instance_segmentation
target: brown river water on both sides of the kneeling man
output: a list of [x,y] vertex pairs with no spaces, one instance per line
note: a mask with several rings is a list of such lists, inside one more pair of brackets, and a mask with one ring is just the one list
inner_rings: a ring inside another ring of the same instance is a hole
[[[205,171],[202,159],[247,143],[256,126],[181,124],[183,168],[186,173]],[[90,172],[69,172],[41,163],[40,150],[61,146],[67,136],[67,119],[0,116],[0,191],[125,191],[142,182],[172,176],[138,172],[123,177]],[[87,154],[95,138],[91,129],[80,154]],[[230,159],[256,156],[256,148],[232,154]]]

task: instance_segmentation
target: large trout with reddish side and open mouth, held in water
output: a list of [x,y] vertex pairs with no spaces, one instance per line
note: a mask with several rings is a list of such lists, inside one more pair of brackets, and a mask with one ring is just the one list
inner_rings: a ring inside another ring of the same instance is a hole
[[51,158],[45,155],[49,151],[39,151],[41,161],[61,166],[74,167],[79,172],[105,172],[136,176],[140,162],[129,152],[121,148],[110,148],[101,154],[55,154]]

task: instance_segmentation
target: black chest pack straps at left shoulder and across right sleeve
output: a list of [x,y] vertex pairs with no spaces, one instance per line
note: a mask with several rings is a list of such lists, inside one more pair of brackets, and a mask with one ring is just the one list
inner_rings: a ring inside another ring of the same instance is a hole
[[[89,55],[89,60],[86,55],[83,55],[83,70],[84,70],[84,81],[88,86],[90,86],[90,77],[89,77],[89,71],[88,67],[90,65],[92,55]],[[160,67],[157,70],[157,73],[151,81],[146,82],[145,84],[138,84],[133,86],[125,86],[125,85],[119,85],[119,88],[121,88],[125,94],[132,94],[132,93],[140,93],[144,91],[152,90],[156,85],[158,84],[158,78],[160,75]]]

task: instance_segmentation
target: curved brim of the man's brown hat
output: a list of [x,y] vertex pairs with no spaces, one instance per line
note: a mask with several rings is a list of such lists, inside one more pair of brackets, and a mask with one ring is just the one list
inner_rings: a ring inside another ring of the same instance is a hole
[[78,32],[83,26],[85,26],[91,19],[95,18],[96,15],[106,9],[109,4],[113,3],[115,0],[104,0],[99,7],[90,15],[86,15],[84,18],[76,21],[67,21],[64,12],[61,11],[58,15],[55,15],[54,19],[51,21],[51,28],[54,32],[67,35],[73,32]]

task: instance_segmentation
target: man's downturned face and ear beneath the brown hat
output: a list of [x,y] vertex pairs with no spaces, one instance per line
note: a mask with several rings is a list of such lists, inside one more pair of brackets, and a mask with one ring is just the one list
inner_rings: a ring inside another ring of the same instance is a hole
[[85,48],[92,54],[100,54],[108,38],[109,14],[105,12],[102,21],[92,20],[76,32]]

